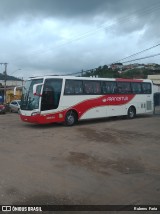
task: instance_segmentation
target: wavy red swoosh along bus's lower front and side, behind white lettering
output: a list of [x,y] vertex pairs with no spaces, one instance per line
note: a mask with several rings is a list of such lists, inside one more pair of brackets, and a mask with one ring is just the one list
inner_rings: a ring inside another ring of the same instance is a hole
[[[112,105],[125,105],[135,97],[134,94],[110,94],[100,96],[94,99],[88,99],[82,101],[74,106],[71,106],[63,111],[51,114],[38,114],[34,116],[20,115],[24,122],[47,124],[53,122],[63,122],[65,115],[69,110],[75,110],[78,113],[78,118],[81,118],[90,109],[101,107],[101,106],[112,106]],[[104,115],[105,117],[105,115]]]

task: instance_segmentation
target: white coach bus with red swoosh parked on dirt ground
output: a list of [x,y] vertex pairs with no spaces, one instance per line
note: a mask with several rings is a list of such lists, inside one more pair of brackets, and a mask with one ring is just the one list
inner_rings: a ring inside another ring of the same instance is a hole
[[20,117],[47,124],[153,112],[151,80],[73,76],[29,78],[23,87]]

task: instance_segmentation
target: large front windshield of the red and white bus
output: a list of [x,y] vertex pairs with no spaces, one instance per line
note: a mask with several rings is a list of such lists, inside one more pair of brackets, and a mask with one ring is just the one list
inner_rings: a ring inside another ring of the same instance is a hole
[[[43,83],[43,79],[28,80],[25,83],[22,91],[21,109],[34,110],[39,109],[39,96],[33,95],[33,85]],[[39,88],[41,90],[41,88]]]

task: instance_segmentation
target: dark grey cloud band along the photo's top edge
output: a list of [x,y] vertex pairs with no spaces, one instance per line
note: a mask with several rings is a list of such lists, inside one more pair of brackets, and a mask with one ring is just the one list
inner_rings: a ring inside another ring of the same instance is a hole
[[[158,0],[1,0],[2,19],[31,15],[50,17],[116,16],[130,12],[143,16],[146,6],[154,6]],[[142,10],[141,10],[142,9]]]

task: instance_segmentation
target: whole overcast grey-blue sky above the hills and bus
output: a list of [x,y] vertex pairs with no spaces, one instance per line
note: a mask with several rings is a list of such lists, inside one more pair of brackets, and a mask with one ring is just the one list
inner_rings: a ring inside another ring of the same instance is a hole
[[111,64],[160,43],[159,14],[159,0],[0,0],[0,62],[24,78]]

